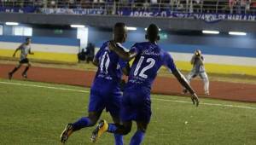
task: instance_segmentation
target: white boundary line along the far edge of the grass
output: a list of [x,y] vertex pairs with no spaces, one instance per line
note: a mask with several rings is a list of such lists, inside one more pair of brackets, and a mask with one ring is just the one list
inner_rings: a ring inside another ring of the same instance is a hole
[[[28,87],[37,87],[37,88],[46,88],[52,90],[68,90],[68,91],[75,91],[75,92],[82,92],[82,93],[89,93],[88,90],[74,90],[68,88],[60,88],[60,87],[53,87],[53,86],[46,86],[46,85],[36,85],[36,84],[20,84],[20,83],[12,83],[12,82],[1,82],[0,84],[13,84],[13,85],[20,85],[20,86],[28,86]],[[180,102],[180,103],[192,103],[192,102],[185,102],[185,101],[178,101],[178,100],[168,100],[168,99],[160,99],[160,98],[151,98],[152,100],[157,101],[164,101],[164,102]],[[229,104],[216,104],[216,103],[208,103],[208,102],[201,102],[201,105],[207,106],[218,106],[218,107],[238,107],[238,108],[246,108],[246,109],[253,109],[256,110],[256,107],[247,107],[247,106],[238,106],[238,105],[229,105]]]

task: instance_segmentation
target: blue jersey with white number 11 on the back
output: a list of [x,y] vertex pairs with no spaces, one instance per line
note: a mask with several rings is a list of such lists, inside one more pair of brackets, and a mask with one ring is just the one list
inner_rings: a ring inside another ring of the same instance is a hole
[[[123,48],[121,44],[119,44],[119,48]],[[102,44],[95,59],[99,61],[99,65],[91,89],[108,92],[119,90],[122,68],[126,67],[127,62],[108,49],[108,42]]]

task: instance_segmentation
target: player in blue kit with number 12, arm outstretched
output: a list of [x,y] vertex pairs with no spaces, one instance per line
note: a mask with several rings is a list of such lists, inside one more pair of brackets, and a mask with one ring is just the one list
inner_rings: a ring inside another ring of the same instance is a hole
[[108,124],[106,120],[101,120],[96,130],[92,132],[92,142],[96,142],[99,136],[106,131],[122,135],[128,134],[131,131],[132,120],[137,122],[137,132],[132,136],[130,145],[139,145],[143,142],[143,136],[151,117],[150,90],[161,66],[166,66],[172,71],[183,87],[189,90],[192,102],[196,106],[199,105],[195,91],[183,74],[178,71],[172,56],[158,46],[159,28],[154,24],[148,26],[146,38],[148,42],[135,44],[129,52],[125,52],[114,43],[109,45],[109,48],[124,60],[130,61],[133,58],[135,60],[131,66],[122,100],[121,121],[123,125]]

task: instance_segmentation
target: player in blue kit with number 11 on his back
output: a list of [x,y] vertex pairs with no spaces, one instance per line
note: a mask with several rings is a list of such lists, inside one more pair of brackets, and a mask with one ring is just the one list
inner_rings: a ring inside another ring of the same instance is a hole
[[[113,42],[122,48],[121,44],[125,42],[126,37],[125,23],[116,23],[113,27]],[[109,42],[102,45],[93,61],[98,70],[90,90],[88,116],[82,117],[73,124],[67,124],[61,133],[61,142],[63,143],[67,142],[68,137],[74,131],[96,125],[104,108],[111,114],[113,122],[116,125],[120,124],[119,111],[122,93],[119,83],[122,73],[128,75],[130,67],[119,55],[108,49]],[[121,135],[114,134],[114,138],[116,145],[123,144],[123,137]]]

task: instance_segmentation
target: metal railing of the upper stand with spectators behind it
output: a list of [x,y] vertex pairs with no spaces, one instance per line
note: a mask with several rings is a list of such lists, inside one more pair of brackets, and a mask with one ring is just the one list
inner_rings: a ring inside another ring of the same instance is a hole
[[[118,14],[121,9],[131,11],[162,11],[178,13],[256,14],[256,0],[1,0],[0,8],[37,9],[102,9],[103,14]],[[154,3],[155,1],[155,3]],[[2,10],[3,12],[3,10]],[[35,11],[39,13],[40,10]]]

